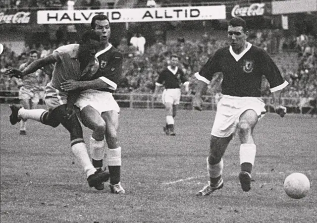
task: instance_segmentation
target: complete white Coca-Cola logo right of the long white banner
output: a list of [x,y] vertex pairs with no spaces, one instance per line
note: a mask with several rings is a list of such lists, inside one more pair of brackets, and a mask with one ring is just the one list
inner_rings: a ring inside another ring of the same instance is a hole
[[236,4],[231,11],[231,15],[232,17],[263,15],[264,6],[265,3],[254,3],[245,7],[240,7],[240,5]]

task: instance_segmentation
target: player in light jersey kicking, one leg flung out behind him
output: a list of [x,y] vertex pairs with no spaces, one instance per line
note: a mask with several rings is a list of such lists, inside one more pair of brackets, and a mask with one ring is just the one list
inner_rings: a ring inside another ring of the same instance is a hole
[[44,109],[26,110],[17,106],[10,106],[12,113],[10,122],[16,124],[21,119],[33,119],[43,124],[57,127],[62,124],[70,133],[71,149],[75,157],[84,168],[90,187],[98,188],[98,185],[108,180],[109,173],[98,172],[92,165],[85,142],[83,131],[76,115],[70,114],[67,103],[74,100],[71,97],[77,95],[63,91],[60,84],[68,79],[79,80],[82,76],[92,77],[99,68],[95,54],[100,45],[100,37],[96,32],[89,31],[83,35],[82,44],[70,44],[53,51],[53,54],[38,59],[29,64],[22,72],[10,70],[8,74],[15,77],[23,77],[37,69],[54,63],[52,80],[45,89],[45,104],[49,111]]

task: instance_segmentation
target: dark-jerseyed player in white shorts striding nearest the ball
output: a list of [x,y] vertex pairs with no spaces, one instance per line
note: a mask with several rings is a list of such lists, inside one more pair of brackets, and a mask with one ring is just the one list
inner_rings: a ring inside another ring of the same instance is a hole
[[209,195],[214,190],[222,188],[222,156],[235,132],[241,142],[241,187],[243,191],[251,189],[251,170],[257,148],[253,139],[253,129],[266,112],[265,104],[260,99],[263,75],[270,84],[274,110],[281,117],[286,114],[286,108],[280,105],[280,90],[288,83],[284,81],[270,56],[263,49],[247,42],[248,35],[246,22],[242,18],[231,19],[228,24],[228,39],[231,46],[219,49],[195,74],[199,83],[193,106],[201,111],[201,94],[204,87],[210,83],[214,73],[223,73],[223,97],[217,104],[207,158],[210,184],[200,190],[198,196]]

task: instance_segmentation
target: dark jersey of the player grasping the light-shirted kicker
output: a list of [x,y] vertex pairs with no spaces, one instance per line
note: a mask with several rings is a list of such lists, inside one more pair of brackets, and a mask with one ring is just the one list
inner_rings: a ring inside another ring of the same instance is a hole
[[93,79],[100,78],[110,85],[100,91],[114,92],[121,81],[123,56],[111,44],[96,54],[99,60],[99,69]]

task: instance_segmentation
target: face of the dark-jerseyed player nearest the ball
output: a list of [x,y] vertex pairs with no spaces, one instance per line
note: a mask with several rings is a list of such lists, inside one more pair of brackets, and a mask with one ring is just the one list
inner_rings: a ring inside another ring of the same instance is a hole
[[244,47],[248,34],[248,32],[244,32],[242,26],[228,26],[228,39],[233,49],[241,49]]

